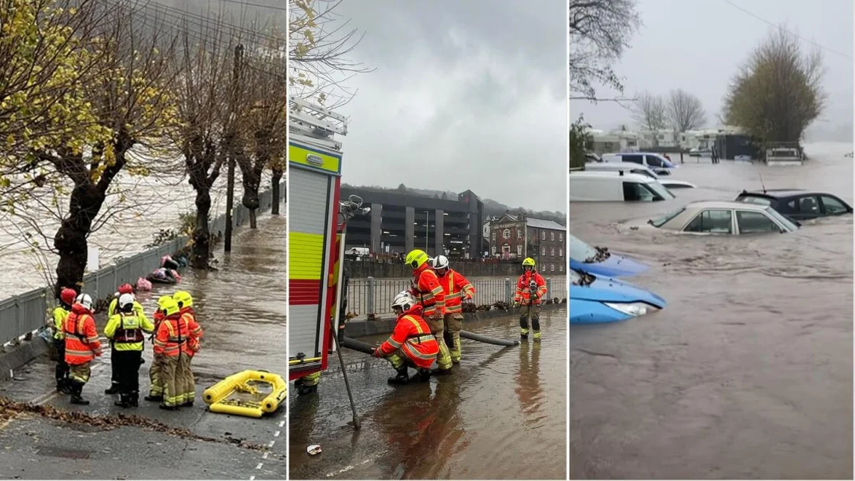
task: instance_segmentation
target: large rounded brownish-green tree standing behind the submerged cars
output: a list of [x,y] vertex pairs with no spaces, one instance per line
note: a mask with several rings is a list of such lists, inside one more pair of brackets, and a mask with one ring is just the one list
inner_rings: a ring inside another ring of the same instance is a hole
[[823,56],[805,54],[784,28],[770,33],[734,76],[724,98],[728,124],[761,141],[794,142],[826,105]]

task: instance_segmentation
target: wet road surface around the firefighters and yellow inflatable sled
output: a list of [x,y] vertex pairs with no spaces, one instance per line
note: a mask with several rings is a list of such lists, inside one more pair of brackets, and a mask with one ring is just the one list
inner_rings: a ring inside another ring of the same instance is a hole
[[[196,406],[167,412],[157,403],[142,400],[149,388],[150,342],[146,342],[146,362],[140,368],[137,409],[114,407],[118,396],[103,394],[109,387],[109,348],[96,360],[91,381],[83,391],[90,406],[72,406],[68,396],[53,394],[54,364],[46,358],[16,371],[15,380],[0,383],[0,395],[16,401],[98,416],[137,414],[215,441],[141,427],[104,431],[91,424],[28,414],[8,422],[0,420],[0,477],[285,478],[284,406],[269,418],[250,419],[209,413],[202,401],[204,389],[238,371],[266,369],[286,374],[286,293],[282,287],[286,219],[260,217],[258,227],[256,231],[236,229],[232,254],[217,253],[221,258],[219,271],[185,270],[178,287],[156,286],[154,292],[139,296],[150,316],[159,295],[171,294],[177,288],[193,295],[204,330],[203,350],[193,359]],[[99,324],[100,331],[103,321]],[[252,445],[238,446],[239,440]]]

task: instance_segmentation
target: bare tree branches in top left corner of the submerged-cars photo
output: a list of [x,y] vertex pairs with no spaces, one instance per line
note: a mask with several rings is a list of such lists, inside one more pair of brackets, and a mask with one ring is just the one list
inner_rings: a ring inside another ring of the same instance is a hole
[[623,92],[611,69],[641,25],[635,0],[569,0],[570,92],[596,98],[596,83]]

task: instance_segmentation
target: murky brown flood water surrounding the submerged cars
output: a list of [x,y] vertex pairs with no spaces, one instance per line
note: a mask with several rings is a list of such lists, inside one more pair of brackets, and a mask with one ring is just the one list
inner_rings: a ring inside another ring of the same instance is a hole
[[570,478],[852,478],[852,216],[781,235],[628,228],[760,175],[852,203],[852,145],[805,148],[802,167],[686,157],[672,177],[701,188],[669,201],[571,203],[571,233],[649,264],[628,280],[668,306],[572,326]]

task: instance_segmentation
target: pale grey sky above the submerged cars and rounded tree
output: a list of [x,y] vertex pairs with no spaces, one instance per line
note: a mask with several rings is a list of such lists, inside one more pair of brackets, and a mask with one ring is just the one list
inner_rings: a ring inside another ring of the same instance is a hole
[[[831,50],[852,57],[852,1],[822,0],[731,0],[742,9]],[[640,0],[644,22],[632,39],[632,48],[614,65],[625,78],[625,95],[636,92],[667,93],[682,88],[697,95],[707,112],[709,126],[716,125],[722,98],[731,77],[751,51],[773,29],[764,21],[734,8],[723,0]],[[805,49],[813,45],[803,41]],[[824,84],[828,110],[811,130],[852,132],[852,58],[823,50]],[[598,89],[598,97],[616,92]],[[570,116],[582,112],[593,128],[616,128],[632,124],[628,110],[601,102],[574,101]]]

